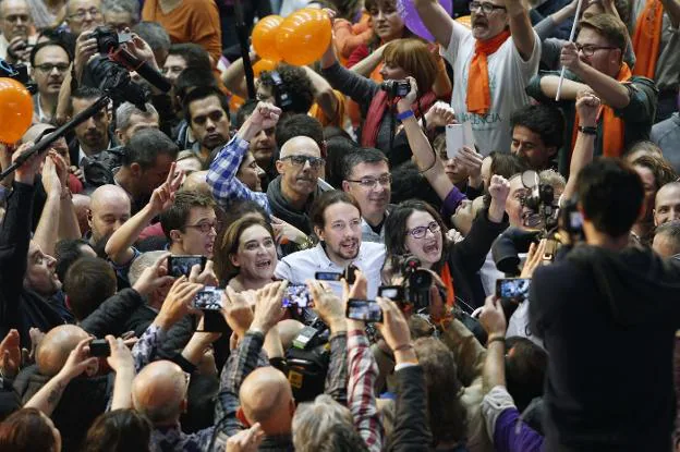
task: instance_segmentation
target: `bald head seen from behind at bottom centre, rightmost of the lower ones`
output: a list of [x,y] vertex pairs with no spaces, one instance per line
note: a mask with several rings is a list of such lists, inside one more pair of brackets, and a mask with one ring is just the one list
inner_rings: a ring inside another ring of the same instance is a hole
[[[279,426],[286,430],[291,428],[292,413],[289,408],[293,400],[293,392],[286,376],[275,367],[259,367],[253,370],[241,384],[239,392],[241,407],[248,423],[263,424],[267,431],[267,424],[272,417],[289,413],[288,426]],[[286,417],[283,417],[286,418]],[[269,428],[269,430],[271,430]]]

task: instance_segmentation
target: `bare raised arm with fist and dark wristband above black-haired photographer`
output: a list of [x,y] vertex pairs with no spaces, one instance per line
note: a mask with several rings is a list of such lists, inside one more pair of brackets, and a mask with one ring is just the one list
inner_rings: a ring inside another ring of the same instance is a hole
[[599,111],[600,101],[593,94],[586,90],[579,94],[576,99],[576,112],[579,114],[579,131],[573,152],[571,154],[571,163],[569,164],[569,180],[562,193],[562,199],[571,199],[576,192],[576,179],[581,170],[593,161],[593,152],[595,151],[595,127],[597,127],[597,112]]

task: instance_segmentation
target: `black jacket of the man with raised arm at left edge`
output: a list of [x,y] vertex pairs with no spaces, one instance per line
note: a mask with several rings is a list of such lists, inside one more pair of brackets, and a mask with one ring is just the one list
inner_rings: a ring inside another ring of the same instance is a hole
[[32,327],[49,331],[64,323],[57,309],[40,295],[24,289],[33,194],[33,186],[15,182],[0,227],[0,338],[16,328],[21,345],[27,349]]

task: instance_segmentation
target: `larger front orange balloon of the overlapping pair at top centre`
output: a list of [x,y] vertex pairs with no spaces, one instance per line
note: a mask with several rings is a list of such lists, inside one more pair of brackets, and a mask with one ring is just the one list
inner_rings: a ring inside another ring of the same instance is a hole
[[324,10],[305,8],[286,17],[277,30],[277,49],[290,64],[315,62],[330,44],[330,19]]

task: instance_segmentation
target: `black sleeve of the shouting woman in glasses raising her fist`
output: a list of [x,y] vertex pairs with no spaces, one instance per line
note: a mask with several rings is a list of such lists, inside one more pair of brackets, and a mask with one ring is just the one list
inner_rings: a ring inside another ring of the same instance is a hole
[[484,305],[484,291],[478,271],[498,235],[508,228],[508,215],[500,223],[488,219],[488,209],[481,211],[462,242],[449,245],[447,262],[453,279],[456,297],[471,306]]

